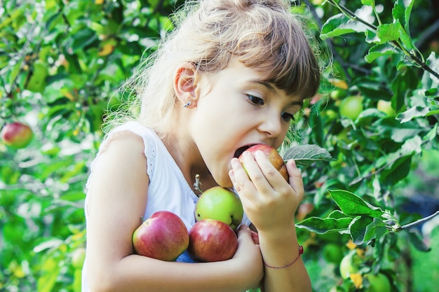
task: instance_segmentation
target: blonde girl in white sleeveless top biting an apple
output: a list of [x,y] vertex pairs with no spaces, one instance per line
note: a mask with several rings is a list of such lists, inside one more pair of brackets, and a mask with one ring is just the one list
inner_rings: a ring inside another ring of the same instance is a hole
[[[294,214],[302,176],[285,181],[252,144],[278,148],[320,72],[302,27],[283,0],[201,0],[133,78],[140,116],[102,143],[87,183],[83,291],[311,291]],[[133,252],[132,235],[155,211],[195,223],[203,188],[234,188],[245,218],[233,258],[165,262]],[[259,232],[252,241],[249,225]]]

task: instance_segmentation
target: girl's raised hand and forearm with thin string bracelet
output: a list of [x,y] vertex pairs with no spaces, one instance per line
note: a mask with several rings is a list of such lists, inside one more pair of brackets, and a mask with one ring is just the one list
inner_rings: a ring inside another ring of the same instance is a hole
[[[287,164],[290,176],[287,183],[263,154],[244,159],[248,174],[238,160],[232,160],[231,179],[245,213],[259,232],[264,262],[273,267],[284,267],[299,255],[294,215],[304,195],[302,175],[292,160]],[[311,281],[302,258],[284,268],[265,267],[262,288],[266,292],[311,291]]]

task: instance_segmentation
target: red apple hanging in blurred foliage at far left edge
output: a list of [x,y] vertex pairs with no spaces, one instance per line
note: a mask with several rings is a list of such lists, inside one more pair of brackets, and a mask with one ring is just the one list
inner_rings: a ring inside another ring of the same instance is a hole
[[1,130],[1,139],[4,144],[12,148],[25,148],[34,137],[32,129],[23,123],[13,122],[6,124]]

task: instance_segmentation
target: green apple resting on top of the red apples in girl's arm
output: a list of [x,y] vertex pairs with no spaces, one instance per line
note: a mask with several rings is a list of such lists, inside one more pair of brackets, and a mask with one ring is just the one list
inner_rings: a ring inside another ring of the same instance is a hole
[[195,205],[195,220],[215,219],[236,230],[243,220],[243,204],[229,188],[214,186],[205,190]]

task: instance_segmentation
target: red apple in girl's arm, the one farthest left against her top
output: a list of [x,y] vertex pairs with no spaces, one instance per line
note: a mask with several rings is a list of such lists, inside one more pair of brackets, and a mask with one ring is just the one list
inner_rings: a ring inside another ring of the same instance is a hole
[[182,219],[170,211],[156,211],[133,232],[137,254],[173,261],[189,246],[189,232]]

